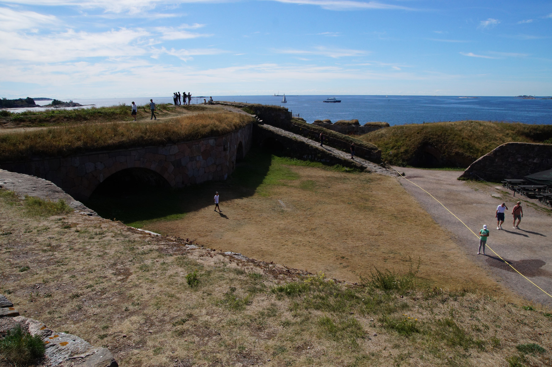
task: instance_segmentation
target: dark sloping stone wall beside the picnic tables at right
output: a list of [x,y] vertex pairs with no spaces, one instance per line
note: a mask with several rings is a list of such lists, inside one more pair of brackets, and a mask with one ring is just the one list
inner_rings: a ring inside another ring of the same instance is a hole
[[552,144],[506,143],[472,163],[460,179],[500,182],[552,169]]

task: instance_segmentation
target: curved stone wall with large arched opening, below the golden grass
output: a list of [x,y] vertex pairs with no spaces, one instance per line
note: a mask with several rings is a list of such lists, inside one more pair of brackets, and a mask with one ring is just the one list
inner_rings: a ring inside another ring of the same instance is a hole
[[[226,180],[251,147],[252,124],[221,137],[169,144],[163,147],[93,152],[65,158],[3,163],[0,168],[54,182],[72,197],[87,199],[115,172],[146,168],[160,174],[171,187]],[[240,156],[238,156],[240,155]]]

